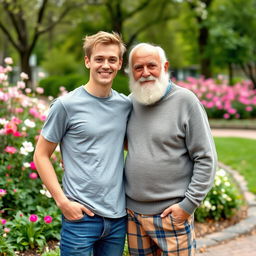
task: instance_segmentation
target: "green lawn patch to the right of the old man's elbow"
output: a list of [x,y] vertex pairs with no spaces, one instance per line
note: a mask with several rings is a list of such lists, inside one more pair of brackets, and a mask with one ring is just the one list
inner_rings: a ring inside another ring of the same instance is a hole
[[256,140],[245,138],[214,137],[218,160],[237,170],[256,194]]

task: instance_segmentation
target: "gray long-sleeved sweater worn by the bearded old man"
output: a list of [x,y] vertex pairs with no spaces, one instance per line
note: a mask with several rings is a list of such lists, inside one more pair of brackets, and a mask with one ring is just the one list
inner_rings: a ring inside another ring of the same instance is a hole
[[154,105],[133,99],[127,127],[127,208],[159,214],[179,203],[192,214],[212,187],[217,154],[205,110],[189,90],[172,83]]

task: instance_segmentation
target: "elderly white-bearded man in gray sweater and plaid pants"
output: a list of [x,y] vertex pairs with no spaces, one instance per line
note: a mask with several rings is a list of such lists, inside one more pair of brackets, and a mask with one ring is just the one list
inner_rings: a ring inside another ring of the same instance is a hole
[[197,97],[169,80],[162,48],[129,56],[133,111],[125,165],[130,255],[195,255],[193,213],[217,164],[207,116]]

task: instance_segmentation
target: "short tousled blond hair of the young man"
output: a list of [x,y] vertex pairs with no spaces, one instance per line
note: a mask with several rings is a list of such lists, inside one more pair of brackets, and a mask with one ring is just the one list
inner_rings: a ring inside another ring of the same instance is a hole
[[94,35],[84,37],[83,49],[84,49],[85,55],[88,58],[91,57],[92,50],[97,44],[117,45],[120,49],[120,58],[122,58],[124,52],[126,51],[124,42],[118,33],[116,32],[108,33],[105,31],[99,31]]

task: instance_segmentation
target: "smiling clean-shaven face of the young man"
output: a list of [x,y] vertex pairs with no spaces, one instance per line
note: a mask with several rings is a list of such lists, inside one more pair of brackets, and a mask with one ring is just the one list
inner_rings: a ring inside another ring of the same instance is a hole
[[85,56],[85,65],[90,69],[90,80],[93,83],[111,86],[122,66],[120,49],[115,44],[96,44],[91,57]]

